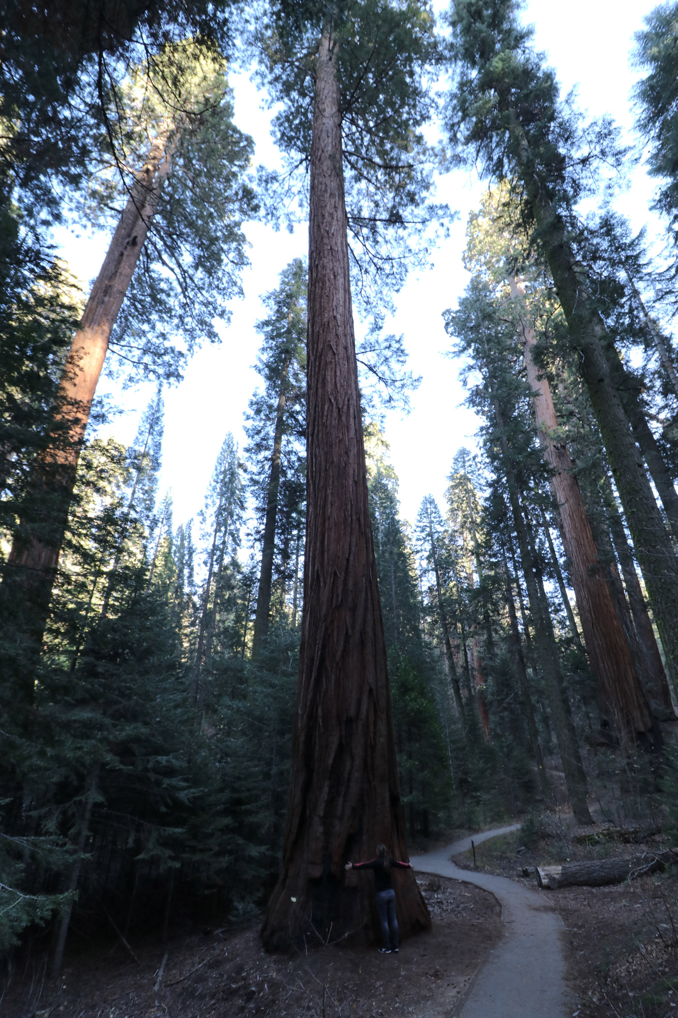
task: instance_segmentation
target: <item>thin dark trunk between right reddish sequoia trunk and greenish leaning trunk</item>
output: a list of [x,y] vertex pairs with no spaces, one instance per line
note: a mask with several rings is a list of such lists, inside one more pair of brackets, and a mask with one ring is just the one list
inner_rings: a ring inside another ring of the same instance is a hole
[[612,541],[617,553],[617,559],[621,566],[622,576],[626,584],[626,596],[628,598],[633,625],[638,639],[642,665],[640,666],[645,676],[646,688],[651,691],[651,696],[664,709],[673,712],[669,680],[662,662],[655,630],[647,614],[647,606],[642,596],[638,574],[635,571],[633,562],[633,552],[626,538],[626,530],[622,518],[617,508],[612,486],[607,475],[603,479],[603,502],[605,505]]

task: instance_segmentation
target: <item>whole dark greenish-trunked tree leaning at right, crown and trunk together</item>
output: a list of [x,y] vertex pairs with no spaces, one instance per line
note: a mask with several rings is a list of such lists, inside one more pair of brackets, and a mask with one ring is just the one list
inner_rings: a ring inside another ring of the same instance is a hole
[[[644,456],[661,484],[661,456],[571,236],[572,209],[591,153],[561,106],[554,75],[531,49],[531,30],[519,23],[517,10],[515,0],[454,0],[456,81],[448,124],[451,136],[472,149],[488,176],[516,181],[524,218],[535,228],[567,320],[571,348],[578,352],[667,658],[675,663],[678,562],[642,462]],[[607,148],[612,158],[609,142],[609,130],[600,131],[597,148]]]

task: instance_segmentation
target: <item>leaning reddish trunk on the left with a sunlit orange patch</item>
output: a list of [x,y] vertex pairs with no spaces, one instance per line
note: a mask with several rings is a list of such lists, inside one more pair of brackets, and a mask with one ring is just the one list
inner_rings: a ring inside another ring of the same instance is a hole
[[[170,165],[165,132],[154,142],[138,173],[92,288],[57,390],[47,446],[36,460],[29,482],[30,508],[12,542],[0,586],[0,618],[14,620],[37,648],[47,623],[95,391]],[[29,698],[32,689],[33,675],[24,682],[23,692]]]

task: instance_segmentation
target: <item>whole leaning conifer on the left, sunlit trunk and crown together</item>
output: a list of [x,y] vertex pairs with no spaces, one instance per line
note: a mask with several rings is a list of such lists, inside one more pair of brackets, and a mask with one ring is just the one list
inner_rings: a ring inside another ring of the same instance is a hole
[[[120,103],[122,151],[136,168],[129,181],[104,181],[108,202],[116,192],[126,202],[63,366],[48,438],[32,467],[31,500],[24,503],[0,586],[4,624],[17,626],[19,639],[27,637],[36,647],[45,628],[95,390],[132,280],[136,286],[123,308],[119,352],[125,359],[131,353],[139,366],[146,362],[176,378],[180,358],[163,342],[163,319],[167,323],[176,315],[170,298],[178,291],[185,301],[182,325],[190,349],[196,329],[205,332],[206,324],[208,334],[212,329],[216,308],[210,299],[207,310],[207,291],[218,285],[227,295],[236,292],[233,267],[237,271],[244,261],[239,224],[251,209],[251,193],[241,176],[250,143],[231,122],[220,62],[190,43],[170,47],[145,68],[132,70]],[[149,133],[153,140],[144,152]],[[223,151],[211,159],[211,172],[195,177],[200,161],[215,156],[215,145]],[[201,183],[194,186],[193,181]],[[208,227],[215,209],[221,211],[218,230]],[[143,251],[145,271],[138,274]],[[176,287],[169,284],[167,264]],[[144,339],[145,319],[146,329],[154,333],[150,343]],[[6,666],[8,675],[16,672],[11,661]],[[19,683],[17,695],[30,698],[18,674],[14,681]]]

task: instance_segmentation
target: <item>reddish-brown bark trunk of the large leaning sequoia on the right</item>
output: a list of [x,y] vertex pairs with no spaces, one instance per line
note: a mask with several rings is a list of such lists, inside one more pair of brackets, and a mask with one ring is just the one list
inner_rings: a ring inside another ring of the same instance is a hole
[[573,464],[558,427],[551,388],[533,359],[534,330],[525,314],[522,287],[512,276],[511,294],[521,320],[523,356],[544,456],[561,520],[565,554],[579,610],[591,670],[598,679],[601,708],[609,710],[622,743],[652,739],[653,720],[636,674],[626,634],[598,558]]

